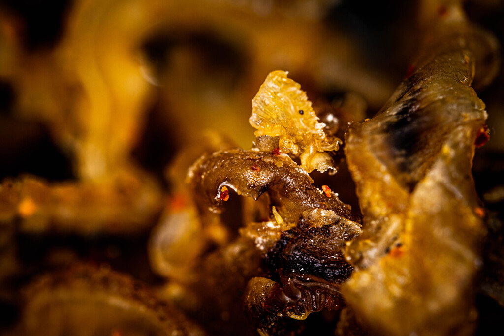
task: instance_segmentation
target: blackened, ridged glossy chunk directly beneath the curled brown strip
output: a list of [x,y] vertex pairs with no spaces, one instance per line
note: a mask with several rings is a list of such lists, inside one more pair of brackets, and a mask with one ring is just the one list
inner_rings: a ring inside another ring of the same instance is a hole
[[324,308],[344,307],[339,287],[353,267],[343,250],[359,233],[360,225],[331,210],[305,211],[267,253],[269,278],[247,284],[244,309],[254,327],[263,335],[282,334],[292,323],[286,317],[304,320]]

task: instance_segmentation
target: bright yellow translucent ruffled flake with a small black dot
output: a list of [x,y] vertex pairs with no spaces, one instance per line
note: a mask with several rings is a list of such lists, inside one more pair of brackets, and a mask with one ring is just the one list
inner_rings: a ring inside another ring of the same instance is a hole
[[268,75],[252,100],[250,125],[258,129],[256,137],[279,137],[281,152],[300,155],[307,172],[334,169],[332,158],[324,151],[337,151],[341,140],[326,135],[326,125],[319,122],[301,85],[287,74],[274,71]]

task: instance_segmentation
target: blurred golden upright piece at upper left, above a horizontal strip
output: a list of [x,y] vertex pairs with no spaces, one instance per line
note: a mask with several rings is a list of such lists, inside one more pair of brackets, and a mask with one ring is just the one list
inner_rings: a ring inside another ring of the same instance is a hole
[[[54,48],[25,51],[24,41],[12,42],[17,57],[5,74],[15,89],[12,112],[44,121],[76,158],[80,178],[106,179],[131,166],[151,90],[137,52],[160,15],[156,3],[77,1]],[[13,21],[6,24],[11,35],[22,36],[22,24]]]

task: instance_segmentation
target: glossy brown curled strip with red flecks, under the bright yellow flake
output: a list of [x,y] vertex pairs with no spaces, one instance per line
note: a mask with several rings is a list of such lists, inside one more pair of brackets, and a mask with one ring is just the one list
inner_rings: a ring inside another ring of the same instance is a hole
[[268,191],[271,205],[288,223],[297,223],[304,211],[315,208],[332,210],[339,216],[357,220],[350,207],[335,194],[327,197],[314,187],[309,175],[287,155],[271,155],[257,149],[216,152],[198,160],[188,177],[203,211],[219,211],[223,203],[220,192],[227,186],[254,199]]

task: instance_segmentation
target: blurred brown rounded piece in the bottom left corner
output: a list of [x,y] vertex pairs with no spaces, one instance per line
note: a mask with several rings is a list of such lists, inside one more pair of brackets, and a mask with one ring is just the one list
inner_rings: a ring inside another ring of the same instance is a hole
[[14,335],[204,335],[144,285],[106,268],[74,266],[25,289]]

